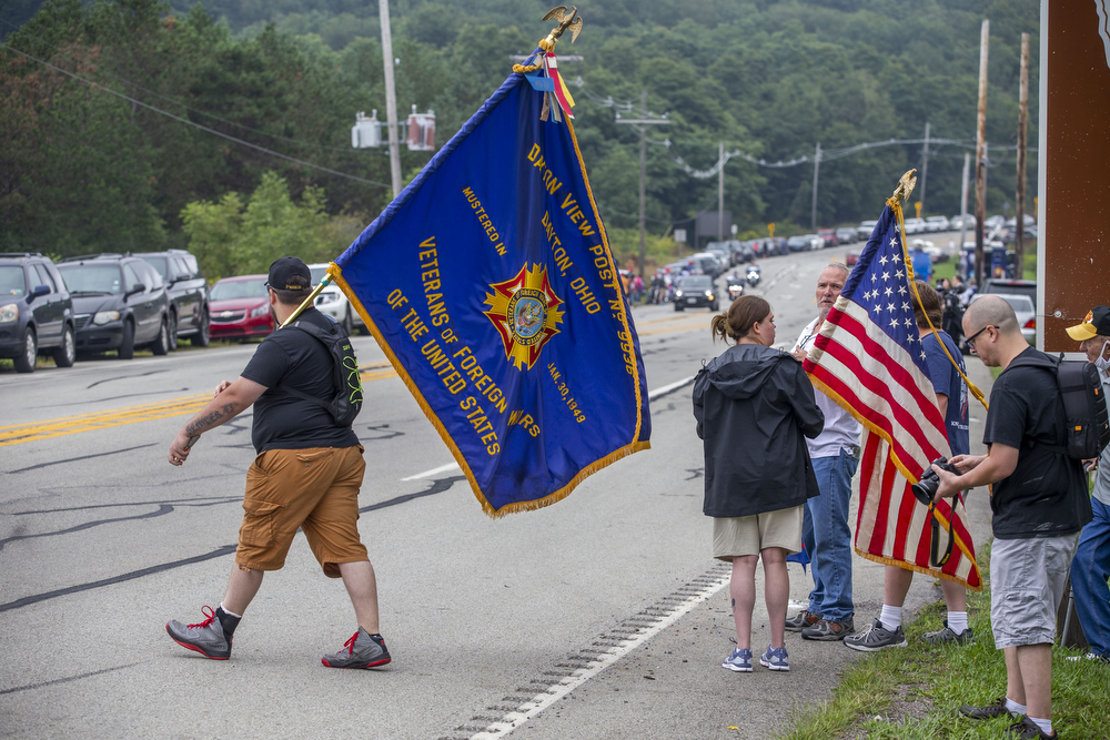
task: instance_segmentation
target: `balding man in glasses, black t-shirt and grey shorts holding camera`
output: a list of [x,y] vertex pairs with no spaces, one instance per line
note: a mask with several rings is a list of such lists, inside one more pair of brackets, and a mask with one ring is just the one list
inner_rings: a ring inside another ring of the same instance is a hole
[[1013,308],[987,295],[963,315],[963,333],[988,367],[1001,367],[990,392],[986,455],[957,455],[953,475],[934,466],[938,497],[993,484],[995,545],[990,621],[1006,656],[1006,696],[985,707],[965,704],[972,719],[1011,714],[1008,737],[1056,738],[1052,730],[1052,643],[1079,534],[1091,520],[1087,476],[1067,447],[1056,365],[1029,346]]

